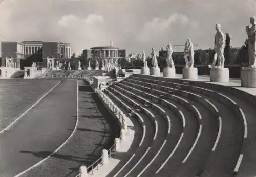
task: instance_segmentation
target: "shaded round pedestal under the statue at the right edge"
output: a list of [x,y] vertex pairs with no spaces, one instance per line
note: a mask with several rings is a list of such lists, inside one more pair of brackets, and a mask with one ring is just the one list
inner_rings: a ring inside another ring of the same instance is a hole
[[256,68],[242,68],[241,86],[256,88]]

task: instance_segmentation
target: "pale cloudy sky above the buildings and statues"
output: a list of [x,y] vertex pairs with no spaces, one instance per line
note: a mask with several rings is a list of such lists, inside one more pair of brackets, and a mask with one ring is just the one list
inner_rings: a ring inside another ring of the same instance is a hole
[[[256,0],[0,0],[0,41],[65,41],[72,52],[110,45],[127,54],[168,43],[214,47],[215,24],[241,47]],[[174,50],[183,50],[175,47]]]

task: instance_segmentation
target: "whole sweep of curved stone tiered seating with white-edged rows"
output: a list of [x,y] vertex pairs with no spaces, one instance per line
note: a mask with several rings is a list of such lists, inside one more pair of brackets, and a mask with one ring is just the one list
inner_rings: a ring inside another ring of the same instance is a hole
[[131,115],[141,115],[142,139],[151,140],[142,145],[143,153],[138,147],[136,163],[126,161],[111,175],[228,176],[243,166],[247,121],[255,114],[235,96],[185,80],[139,74],[105,92]]

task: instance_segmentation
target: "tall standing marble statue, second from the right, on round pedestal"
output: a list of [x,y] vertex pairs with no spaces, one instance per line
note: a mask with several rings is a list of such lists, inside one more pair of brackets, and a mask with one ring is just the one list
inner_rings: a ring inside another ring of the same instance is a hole
[[218,68],[224,68],[224,47],[225,47],[225,36],[224,33],[221,31],[221,25],[216,24],[215,29],[217,30],[217,33],[215,35],[215,41],[214,41],[214,50],[216,54],[214,55],[214,61],[212,62],[211,67],[215,67],[217,58],[218,58]]

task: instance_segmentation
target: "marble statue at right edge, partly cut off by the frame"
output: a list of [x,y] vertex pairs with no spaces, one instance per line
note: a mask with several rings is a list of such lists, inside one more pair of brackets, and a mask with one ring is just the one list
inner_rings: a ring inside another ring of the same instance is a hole
[[246,26],[248,35],[249,67],[256,67],[256,17],[250,17],[251,28]]

